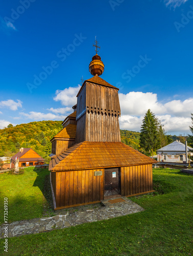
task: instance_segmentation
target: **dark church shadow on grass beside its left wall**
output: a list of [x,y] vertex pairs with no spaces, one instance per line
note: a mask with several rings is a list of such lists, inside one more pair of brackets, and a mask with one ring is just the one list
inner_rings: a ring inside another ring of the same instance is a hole
[[53,205],[53,199],[52,199],[52,190],[50,185],[50,173],[46,175],[41,175],[42,172],[48,170],[48,168],[41,168],[41,167],[35,167],[34,172],[36,172],[37,177],[34,181],[33,186],[39,187],[41,190],[42,195],[44,195],[46,199],[45,203],[45,209],[44,209],[44,215],[49,215],[54,212],[54,205]]

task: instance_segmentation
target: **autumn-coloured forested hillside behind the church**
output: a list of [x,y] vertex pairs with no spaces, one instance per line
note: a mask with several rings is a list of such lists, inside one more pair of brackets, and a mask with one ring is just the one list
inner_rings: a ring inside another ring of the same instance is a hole
[[[20,147],[31,147],[41,157],[49,162],[51,152],[50,140],[62,129],[61,121],[39,121],[23,123],[0,129],[0,157],[13,156]],[[139,146],[139,132],[120,130],[121,141],[135,150],[143,152]],[[184,143],[184,136],[173,136],[171,139],[180,139]],[[188,138],[187,138],[188,140]]]

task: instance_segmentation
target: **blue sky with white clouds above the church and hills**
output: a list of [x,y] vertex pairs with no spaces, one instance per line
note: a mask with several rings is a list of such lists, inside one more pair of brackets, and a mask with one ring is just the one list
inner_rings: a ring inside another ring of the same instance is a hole
[[97,36],[101,78],[120,88],[120,128],[140,131],[151,109],[167,134],[190,133],[192,0],[10,0],[0,10],[0,129],[66,118],[92,77]]

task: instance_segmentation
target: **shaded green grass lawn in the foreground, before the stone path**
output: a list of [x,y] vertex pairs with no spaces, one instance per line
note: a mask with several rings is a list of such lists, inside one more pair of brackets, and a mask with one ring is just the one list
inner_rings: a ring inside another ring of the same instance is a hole
[[[8,253],[3,252],[4,240],[0,240],[0,255],[193,255],[193,176],[176,169],[154,169],[153,176],[159,193],[131,198],[145,211],[10,238]],[[30,211],[29,196],[28,200]]]

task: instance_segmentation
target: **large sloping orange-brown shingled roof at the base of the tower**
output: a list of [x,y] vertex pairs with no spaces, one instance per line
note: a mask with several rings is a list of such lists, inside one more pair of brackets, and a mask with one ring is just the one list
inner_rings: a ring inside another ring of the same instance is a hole
[[79,170],[157,162],[122,142],[83,141],[50,161],[49,170]]

